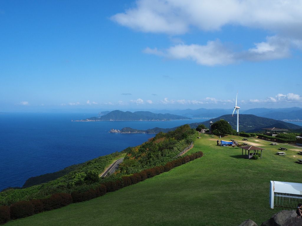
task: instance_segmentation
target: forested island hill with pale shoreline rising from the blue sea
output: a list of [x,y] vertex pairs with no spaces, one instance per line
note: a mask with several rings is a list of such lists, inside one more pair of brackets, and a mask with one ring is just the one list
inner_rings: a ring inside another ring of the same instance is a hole
[[86,118],[79,121],[171,121],[178,119],[191,119],[186,116],[172,114],[155,114],[150,111],[111,111],[101,117]]

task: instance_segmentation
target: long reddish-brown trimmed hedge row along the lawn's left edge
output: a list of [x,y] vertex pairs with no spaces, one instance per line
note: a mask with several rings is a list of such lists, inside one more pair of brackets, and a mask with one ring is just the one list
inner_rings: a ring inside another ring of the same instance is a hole
[[139,173],[132,174],[131,176],[121,177],[116,181],[100,184],[99,187],[90,189],[84,193],[56,193],[47,199],[32,199],[30,201],[16,202],[10,207],[0,206],[0,224],[4,224],[10,219],[24,218],[40,212],[58,209],[67,206],[70,203],[84,202],[99,196],[103,196],[107,192],[113,192],[119,190],[120,188],[127,187],[132,184],[137,184],[140,181],[154,177],[163,172],[170,171],[177,166],[180,166],[202,156],[203,152],[196,152],[192,155],[187,155],[185,157],[175,159],[171,162],[167,162],[164,166],[156,166],[154,168],[146,169]]

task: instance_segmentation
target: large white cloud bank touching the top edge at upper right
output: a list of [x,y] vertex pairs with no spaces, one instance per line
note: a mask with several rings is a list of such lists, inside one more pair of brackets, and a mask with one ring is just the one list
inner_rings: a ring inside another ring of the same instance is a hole
[[230,24],[301,36],[301,11],[300,0],[138,0],[111,19],[142,32],[184,34]]

